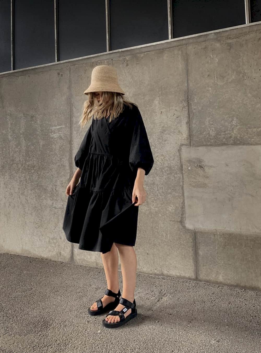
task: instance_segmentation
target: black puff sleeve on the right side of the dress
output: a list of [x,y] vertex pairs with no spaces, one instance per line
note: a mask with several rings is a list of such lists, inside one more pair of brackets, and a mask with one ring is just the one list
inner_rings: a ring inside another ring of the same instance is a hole
[[153,155],[151,152],[148,135],[142,120],[139,109],[135,109],[134,127],[132,131],[129,164],[135,175],[139,167],[145,170],[145,175],[148,175],[153,163]]

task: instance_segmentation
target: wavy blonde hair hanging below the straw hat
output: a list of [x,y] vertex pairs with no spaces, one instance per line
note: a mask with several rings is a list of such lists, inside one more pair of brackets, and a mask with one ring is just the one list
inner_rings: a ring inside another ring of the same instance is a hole
[[137,104],[132,103],[128,100],[122,93],[119,92],[102,92],[100,96],[100,101],[97,100],[95,92],[88,93],[88,99],[83,103],[83,111],[81,115],[81,120],[79,125],[83,128],[89,120],[101,119],[103,117],[108,117],[110,115],[110,122],[117,118],[119,114],[123,111],[123,105],[126,104],[132,109],[132,105]]

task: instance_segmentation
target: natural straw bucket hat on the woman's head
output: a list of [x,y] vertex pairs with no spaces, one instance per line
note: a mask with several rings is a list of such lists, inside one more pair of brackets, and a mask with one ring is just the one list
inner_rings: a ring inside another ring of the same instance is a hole
[[94,67],[92,70],[91,84],[83,93],[88,95],[89,92],[98,91],[119,92],[125,94],[119,86],[116,68],[108,65]]

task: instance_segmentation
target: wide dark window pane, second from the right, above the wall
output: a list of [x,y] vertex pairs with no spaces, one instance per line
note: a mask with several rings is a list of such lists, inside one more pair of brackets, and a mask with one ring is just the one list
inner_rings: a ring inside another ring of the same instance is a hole
[[244,0],[172,0],[173,38],[246,23]]

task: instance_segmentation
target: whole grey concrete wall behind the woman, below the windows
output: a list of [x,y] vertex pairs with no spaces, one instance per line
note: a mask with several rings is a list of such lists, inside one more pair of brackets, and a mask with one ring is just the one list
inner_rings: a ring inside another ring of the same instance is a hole
[[102,267],[62,221],[83,91],[108,64],[155,159],[137,271],[260,290],[260,48],[256,23],[1,74],[0,251]]

